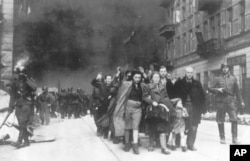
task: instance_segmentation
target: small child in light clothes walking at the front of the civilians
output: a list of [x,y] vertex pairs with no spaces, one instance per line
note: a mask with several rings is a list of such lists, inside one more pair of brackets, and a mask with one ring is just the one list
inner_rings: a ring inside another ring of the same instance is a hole
[[[185,118],[188,117],[187,110],[183,107],[180,99],[172,100],[175,105],[176,115],[172,121],[172,131],[170,133],[170,146],[172,150],[176,150],[175,139],[176,134],[180,134],[181,148],[183,152],[187,151],[186,147],[186,135],[185,135]],[[171,137],[172,136],[172,137]]]

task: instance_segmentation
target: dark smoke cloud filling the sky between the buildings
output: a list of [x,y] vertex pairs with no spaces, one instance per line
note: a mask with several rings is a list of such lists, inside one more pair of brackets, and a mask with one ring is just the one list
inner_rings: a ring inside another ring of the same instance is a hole
[[160,0],[28,2],[29,18],[20,18],[16,25],[16,55],[29,52],[26,65],[41,82],[49,82],[48,73],[60,75],[62,69],[91,75],[88,71],[144,65],[162,54],[158,28],[164,22],[164,10]]

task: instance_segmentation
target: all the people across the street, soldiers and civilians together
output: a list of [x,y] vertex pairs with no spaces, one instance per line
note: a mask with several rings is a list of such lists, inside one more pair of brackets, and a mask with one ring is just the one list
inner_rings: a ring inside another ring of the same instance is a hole
[[[235,76],[229,66],[221,66],[222,74],[214,79],[207,92],[215,95],[220,143],[225,144],[224,122],[228,113],[232,123],[232,143],[237,140],[237,111],[245,107]],[[18,120],[17,148],[29,146],[29,125],[35,111],[42,124],[48,125],[56,111],[61,118],[79,118],[91,111],[99,137],[113,143],[123,141],[124,151],[133,149],[139,154],[139,132],[149,136],[148,151],[161,147],[163,154],[181,147],[195,151],[197,128],[201,115],[207,112],[205,91],[194,79],[194,69],[187,67],[182,78],[173,79],[165,66],[147,72],[142,67],[134,70],[117,68],[114,75],[98,73],[91,82],[93,92],[88,96],[81,89],[61,89],[52,94],[47,87],[36,95],[32,78],[20,72],[7,91],[11,95],[9,113],[14,109]]]

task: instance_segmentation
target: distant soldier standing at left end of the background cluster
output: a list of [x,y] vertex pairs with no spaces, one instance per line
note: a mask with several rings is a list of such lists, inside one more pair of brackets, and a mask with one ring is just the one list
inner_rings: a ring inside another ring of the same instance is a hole
[[43,93],[38,96],[38,101],[40,104],[40,119],[42,120],[42,125],[44,122],[46,125],[50,123],[50,109],[53,103],[53,96],[48,92],[48,87],[42,88]]

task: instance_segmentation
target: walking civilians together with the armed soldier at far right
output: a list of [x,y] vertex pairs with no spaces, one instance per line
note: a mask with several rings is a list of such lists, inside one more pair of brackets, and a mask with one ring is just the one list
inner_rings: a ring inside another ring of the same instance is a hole
[[[223,64],[222,75],[208,89],[216,95],[217,122],[221,143],[225,143],[224,121],[228,112],[232,122],[232,143],[237,144],[237,106],[244,107],[236,77]],[[139,131],[149,136],[148,151],[161,147],[163,154],[181,147],[195,151],[197,128],[207,112],[205,91],[187,67],[183,78],[171,79],[165,66],[144,72],[142,67],[115,75],[98,73],[93,86],[91,106],[97,136],[124,142],[124,151],[139,154]],[[122,138],[122,139],[121,139]]]

